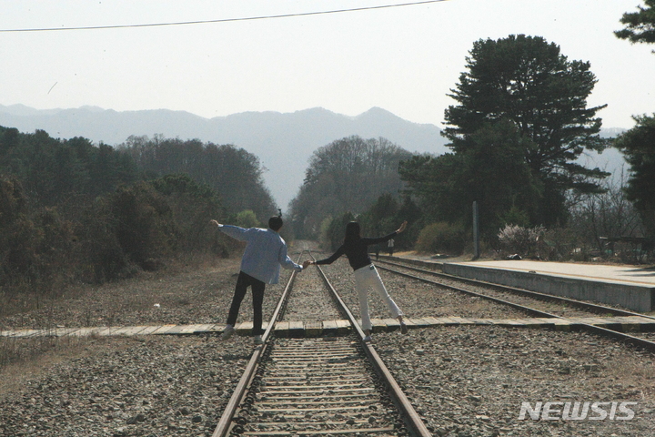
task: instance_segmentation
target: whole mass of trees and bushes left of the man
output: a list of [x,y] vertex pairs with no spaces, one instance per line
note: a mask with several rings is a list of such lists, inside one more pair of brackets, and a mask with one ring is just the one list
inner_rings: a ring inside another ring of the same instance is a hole
[[230,145],[96,146],[0,127],[0,291],[122,278],[188,252],[225,255],[207,222],[273,214],[261,174],[257,157]]

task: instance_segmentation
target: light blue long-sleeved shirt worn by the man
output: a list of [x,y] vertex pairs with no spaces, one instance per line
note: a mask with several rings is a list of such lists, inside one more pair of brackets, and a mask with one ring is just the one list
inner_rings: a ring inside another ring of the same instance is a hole
[[280,266],[285,269],[302,270],[287,255],[287,243],[273,229],[221,225],[221,232],[233,239],[246,241],[246,250],[241,259],[241,271],[267,284],[277,284]]

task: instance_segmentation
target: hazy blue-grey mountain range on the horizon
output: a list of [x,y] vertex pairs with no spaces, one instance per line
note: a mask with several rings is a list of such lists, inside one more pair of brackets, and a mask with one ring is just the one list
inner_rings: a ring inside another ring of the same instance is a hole
[[0,105],[0,126],[22,132],[42,129],[51,137],[86,137],[110,145],[123,143],[132,135],[155,134],[233,144],[259,157],[267,168],[267,187],[282,208],[302,185],[312,153],[336,139],[385,137],[411,152],[440,155],[447,150],[438,127],[409,122],[379,107],[357,117],[316,107],[287,114],[244,112],[204,118],[167,109],[117,112],[100,107],[37,110]]

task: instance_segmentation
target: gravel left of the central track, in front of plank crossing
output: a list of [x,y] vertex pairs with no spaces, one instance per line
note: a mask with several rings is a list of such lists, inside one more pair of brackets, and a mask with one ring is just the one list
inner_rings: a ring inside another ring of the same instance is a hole
[[0,435],[211,435],[253,345],[235,337],[87,340],[0,395]]

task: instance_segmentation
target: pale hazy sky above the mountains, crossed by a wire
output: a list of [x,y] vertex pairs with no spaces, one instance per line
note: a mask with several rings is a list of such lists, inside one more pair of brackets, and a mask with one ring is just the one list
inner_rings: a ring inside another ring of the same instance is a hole
[[[398,1],[396,3],[404,3]],[[392,5],[389,0],[3,2],[0,29],[140,25]],[[591,63],[604,127],[655,112],[655,46],[617,39],[638,0],[446,0],[197,25],[0,32],[0,104],[167,108],[202,117],[383,107],[442,127],[474,41],[543,36]]]

